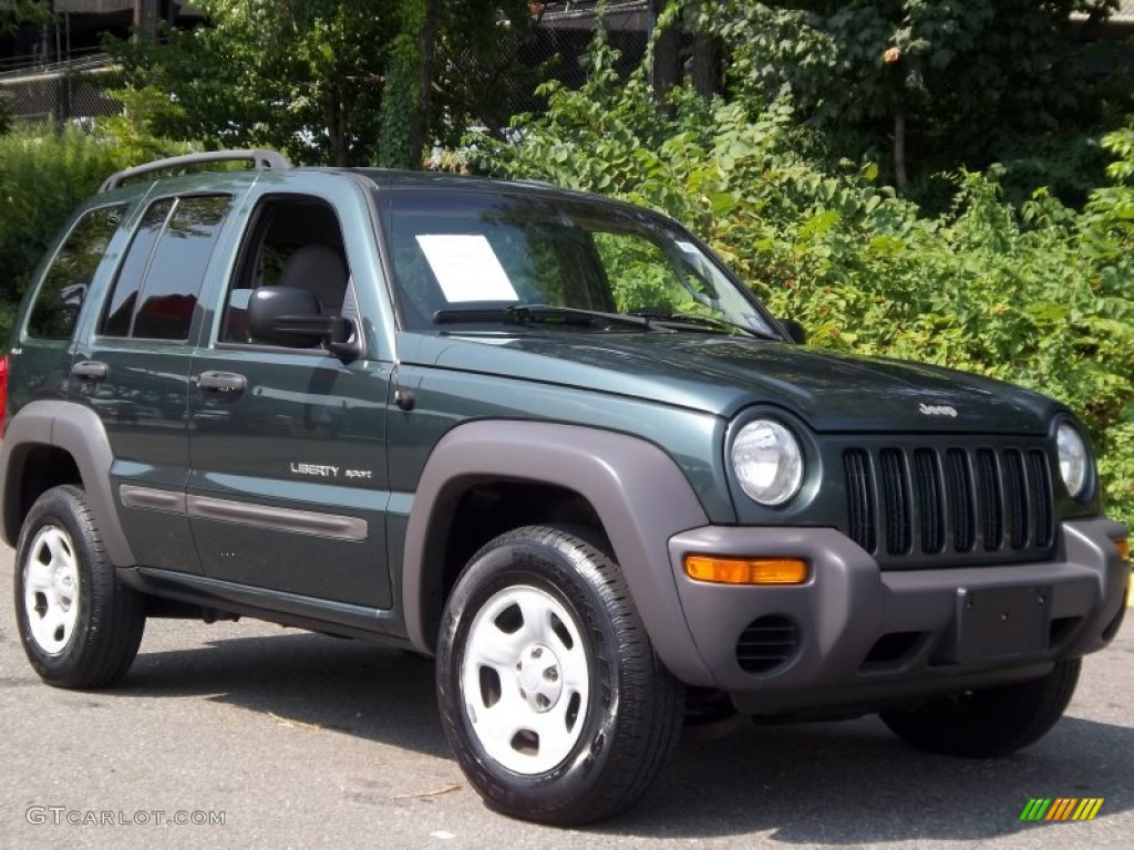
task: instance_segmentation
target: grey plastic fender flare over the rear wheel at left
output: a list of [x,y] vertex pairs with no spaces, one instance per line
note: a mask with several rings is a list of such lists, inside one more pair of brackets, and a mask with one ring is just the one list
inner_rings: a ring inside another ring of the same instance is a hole
[[0,470],[3,470],[0,518],[7,543],[15,546],[19,537],[19,495],[15,487],[24,478],[32,449],[41,445],[62,449],[75,459],[110,562],[116,567],[133,567],[134,552],[115,509],[110,484],[115,454],[107,431],[98,414],[68,401],[32,401],[8,423],[0,444]]

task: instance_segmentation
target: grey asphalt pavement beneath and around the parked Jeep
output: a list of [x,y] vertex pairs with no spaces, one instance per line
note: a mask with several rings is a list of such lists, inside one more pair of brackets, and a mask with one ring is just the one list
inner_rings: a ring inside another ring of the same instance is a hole
[[[0,845],[1134,847],[1129,623],[1088,660],[1068,716],[1016,756],[920,755],[874,719],[744,722],[687,734],[636,809],[579,831],[485,809],[432,690],[430,663],[400,652],[160,620],[119,688],[54,690],[24,660],[0,550]],[[1021,823],[1032,797],[1105,802],[1090,823]]]

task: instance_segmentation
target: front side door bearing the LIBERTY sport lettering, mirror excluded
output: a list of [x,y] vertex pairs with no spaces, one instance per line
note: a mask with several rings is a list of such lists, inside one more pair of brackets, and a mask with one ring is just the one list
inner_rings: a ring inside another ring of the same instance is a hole
[[[314,178],[312,178],[314,179]],[[298,180],[298,177],[296,178]],[[345,180],[339,187],[350,187]],[[193,363],[188,511],[206,575],[307,604],[390,606],[386,561],[386,407],[391,364],[248,335],[253,290],[313,291],[363,335],[357,286],[375,286],[359,247],[358,193],[257,186],[218,315]],[[356,236],[348,243],[344,224]],[[238,588],[234,587],[234,592]],[[277,597],[277,601],[279,597]],[[341,610],[341,609],[336,609]]]

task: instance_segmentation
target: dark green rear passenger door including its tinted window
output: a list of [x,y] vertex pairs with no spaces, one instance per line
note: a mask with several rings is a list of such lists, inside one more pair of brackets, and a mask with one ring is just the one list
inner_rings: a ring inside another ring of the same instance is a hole
[[185,509],[189,363],[232,201],[191,195],[145,206],[71,363],[70,397],[102,419],[122,526],[146,567],[201,571]]

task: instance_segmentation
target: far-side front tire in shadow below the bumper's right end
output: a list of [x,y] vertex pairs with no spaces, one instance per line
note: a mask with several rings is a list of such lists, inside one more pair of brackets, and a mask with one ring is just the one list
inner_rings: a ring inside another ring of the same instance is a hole
[[1042,679],[938,697],[913,711],[881,712],[906,743],[926,753],[996,758],[1035,743],[1063,716],[1075,694],[1080,658],[1057,662]]

